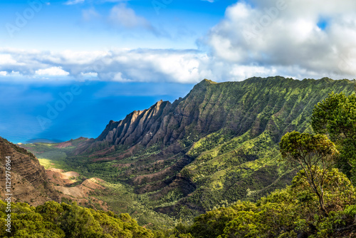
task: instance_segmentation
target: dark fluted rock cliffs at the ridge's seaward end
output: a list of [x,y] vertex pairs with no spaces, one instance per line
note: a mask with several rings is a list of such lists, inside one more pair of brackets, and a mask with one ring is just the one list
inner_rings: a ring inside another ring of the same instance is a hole
[[[174,103],[160,100],[147,110],[130,113],[124,120],[118,122],[110,120],[91,147],[95,147],[97,143],[127,146],[139,144],[145,147],[155,143],[169,145],[182,139],[185,135],[185,128],[197,121],[197,129],[201,133],[220,128],[220,125],[209,128],[210,125],[206,125],[207,120],[199,121],[199,105],[204,100],[209,84],[211,82],[207,80],[202,81],[194,86],[186,98],[180,98]],[[187,101],[189,103],[186,103]]]

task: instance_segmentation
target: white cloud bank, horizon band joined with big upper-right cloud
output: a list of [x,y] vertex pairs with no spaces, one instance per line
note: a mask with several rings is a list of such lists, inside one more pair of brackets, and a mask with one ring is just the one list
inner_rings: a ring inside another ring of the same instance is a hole
[[[352,79],[356,74],[354,9],[356,2],[348,0],[239,1],[197,40],[198,50],[51,52],[0,48],[0,80],[14,75],[28,80],[58,76],[179,83],[274,75]],[[87,19],[96,16],[95,11],[85,14]],[[109,18],[120,27],[155,31],[125,4],[112,8]]]

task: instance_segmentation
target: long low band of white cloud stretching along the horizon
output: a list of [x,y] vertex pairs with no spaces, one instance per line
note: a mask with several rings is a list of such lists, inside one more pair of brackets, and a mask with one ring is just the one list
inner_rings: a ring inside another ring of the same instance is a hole
[[[1,49],[10,54],[14,65],[1,65],[1,72],[36,81],[48,76],[65,76],[68,79],[90,79],[120,82],[177,82],[197,83],[203,78],[213,81],[241,81],[252,76],[293,76],[293,78],[352,78],[342,71],[320,72],[303,66],[258,64],[227,61],[220,56],[209,56],[200,51],[112,49],[110,51],[20,51]],[[352,71],[356,65],[356,51],[345,54],[340,68]],[[231,56],[232,57],[232,56]],[[340,59],[340,62],[341,59]],[[319,62],[323,63],[323,62]],[[317,63],[315,63],[317,65]],[[321,67],[321,66],[320,66]],[[4,73],[3,73],[4,74]],[[64,79],[64,78],[63,78]],[[48,80],[51,80],[49,78]]]

